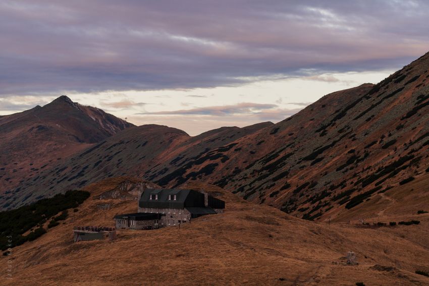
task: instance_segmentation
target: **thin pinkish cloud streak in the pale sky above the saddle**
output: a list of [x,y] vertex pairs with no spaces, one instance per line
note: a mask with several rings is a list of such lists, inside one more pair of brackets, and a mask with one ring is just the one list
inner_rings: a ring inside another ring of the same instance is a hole
[[243,102],[234,105],[208,106],[192,109],[181,109],[173,111],[158,111],[136,113],[140,115],[210,115],[210,116],[228,116],[236,114],[255,114],[264,109],[272,109],[278,107],[276,104],[260,104]]

